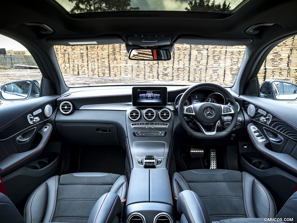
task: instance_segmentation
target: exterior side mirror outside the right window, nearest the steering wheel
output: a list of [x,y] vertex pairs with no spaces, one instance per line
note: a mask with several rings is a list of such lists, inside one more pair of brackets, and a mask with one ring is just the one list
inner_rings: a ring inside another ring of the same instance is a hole
[[273,100],[297,100],[297,85],[280,80],[265,81],[260,93],[261,97]]

